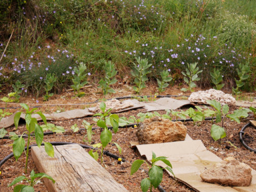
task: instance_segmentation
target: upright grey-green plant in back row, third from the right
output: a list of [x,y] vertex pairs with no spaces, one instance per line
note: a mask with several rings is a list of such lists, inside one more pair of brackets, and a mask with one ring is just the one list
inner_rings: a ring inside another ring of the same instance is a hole
[[188,84],[188,89],[182,88],[181,91],[193,91],[193,88],[196,87],[194,81],[199,81],[200,78],[198,77],[199,73],[202,73],[203,70],[199,70],[197,67],[197,62],[190,63],[187,65],[186,73],[183,71],[181,72],[184,75],[184,81]]

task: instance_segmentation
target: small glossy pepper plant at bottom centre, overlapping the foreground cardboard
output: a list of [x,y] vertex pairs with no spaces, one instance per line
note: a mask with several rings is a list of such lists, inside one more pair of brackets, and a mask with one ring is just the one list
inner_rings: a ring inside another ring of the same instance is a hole
[[[146,163],[148,166],[148,178],[142,179],[140,183],[141,190],[146,192],[150,188],[150,192],[152,191],[152,187],[157,188],[163,179],[163,169],[170,171],[173,175],[172,164],[170,161],[166,159],[167,157],[156,157],[156,154],[152,151],[152,159],[151,159],[151,167],[145,160],[137,159],[132,163],[131,167],[131,175],[137,172],[140,166],[143,163]],[[167,167],[161,168],[156,165],[156,162],[162,161],[167,165]]]

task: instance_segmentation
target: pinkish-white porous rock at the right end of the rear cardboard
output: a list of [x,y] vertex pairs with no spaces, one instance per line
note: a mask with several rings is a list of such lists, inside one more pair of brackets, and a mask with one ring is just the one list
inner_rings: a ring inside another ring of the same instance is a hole
[[206,90],[206,91],[197,91],[194,93],[191,93],[188,100],[190,102],[198,102],[207,104],[207,100],[216,100],[221,103],[221,105],[229,105],[229,106],[235,106],[236,105],[236,99],[231,96],[231,94],[226,94],[223,91],[220,90]]

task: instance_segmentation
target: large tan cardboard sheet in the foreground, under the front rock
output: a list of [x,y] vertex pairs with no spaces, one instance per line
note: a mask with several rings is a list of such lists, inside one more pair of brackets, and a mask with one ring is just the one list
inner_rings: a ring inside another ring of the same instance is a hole
[[[203,145],[201,140],[176,141],[167,143],[156,143],[148,145],[137,145],[139,153],[146,156],[148,161],[152,158],[152,151],[156,156],[165,156],[171,162],[175,177],[186,183],[196,191],[202,192],[255,192],[256,171],[252,170],[252,182],[249,187],[224,187],[218,184],[203,182],[200,178],[201,171],[205,167],[212,167],[215,163],[222,161],[221,158],[211,153]],[[165,167],[162,162],[157,165]],[[170,175],[172,175],[169,172]]]

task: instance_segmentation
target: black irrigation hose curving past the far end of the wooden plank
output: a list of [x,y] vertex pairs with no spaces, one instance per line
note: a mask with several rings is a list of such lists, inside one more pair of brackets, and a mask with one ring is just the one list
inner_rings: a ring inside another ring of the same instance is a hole
[[[83,145],[83,144],[79,144],[79,143],[74,143],[74,142],[50,142],[50,143],[51,143],[53,146],[78,144],[79,146],[81,146],[81,147],[83,147],[83,148],[86,148],[86,149],[96,149],[96,150],[98,149],[98,148],[94,148],[94,147],[92,147],[92,146],[87,146],[87,145]],[[31,149],[31,147],[33,147],[33,146],[37,146],[37,145],[36,145],[36,144],[30,145],[28,148]],[[42,143],[42,146],[44,146],[44,143]],[[24,150],[26,151],[26,150],[27,150],[27,147],[25,147]],[[109,157],[115,158],[116,160],[118,160],[119,158],[121,158],[121,157],[119,157],[119,156],[117,156],[117,155],[115,155],[115,154],[110,153],[109,151],[103,151],[103,154],[104,154],[104,155],[107,155],[107,156],[109,156]],[[10,159],[10,158],[13,157],[13,156],[14,156],[13,153],[11,153],[11,154],[5,156],[5,157],[2,159],[2,161],[0,161],[0,167],[1,167],[8,159]],[[122,158],[122,162],[126,162],[126,160],[125,160],[124,158]],[[160,192],[166,192],[166,191],[164,190],[164,188],[163,188],[161,185],[159,185],[159,186],[157,187],[157,189],[158,189]]]

